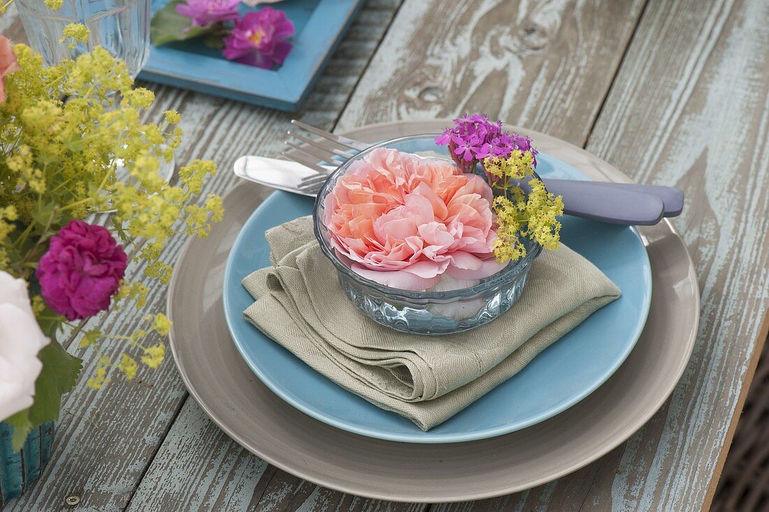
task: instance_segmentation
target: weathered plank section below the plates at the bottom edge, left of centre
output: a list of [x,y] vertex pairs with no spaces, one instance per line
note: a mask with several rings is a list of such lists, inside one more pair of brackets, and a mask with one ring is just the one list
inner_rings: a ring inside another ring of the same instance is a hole
[[309,484],[232,442],[188,399],[128,510],[422,510]]

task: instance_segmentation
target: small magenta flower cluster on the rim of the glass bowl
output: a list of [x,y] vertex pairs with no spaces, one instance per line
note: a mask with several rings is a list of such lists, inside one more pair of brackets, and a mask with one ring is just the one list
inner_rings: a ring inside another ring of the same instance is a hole
[[531,139],[505,131],[501,121],[491,122],[488,115],[468,114],[454,119],[454,125],[436,137],[435,143],[448,146],[454,162],[465,172],[474,170],[488,156],[508,158],[515,149],[531,151],[537,165],[537,150],[531,146]]

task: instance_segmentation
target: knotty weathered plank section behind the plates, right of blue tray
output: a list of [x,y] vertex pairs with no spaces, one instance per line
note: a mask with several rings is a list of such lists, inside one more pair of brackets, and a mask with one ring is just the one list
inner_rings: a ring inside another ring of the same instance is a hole
[[582,145],[643,5],[405,2],[338,129],[485,112]]

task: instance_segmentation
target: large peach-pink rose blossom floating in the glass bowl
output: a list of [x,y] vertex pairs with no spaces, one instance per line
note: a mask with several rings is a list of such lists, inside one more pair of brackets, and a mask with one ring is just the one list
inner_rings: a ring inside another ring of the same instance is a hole
[[354,162],[325,199],[331,246],[356,273],[398,289],[424,290],[443,273],[497,273],[491,188],[452,162],[375,149]]

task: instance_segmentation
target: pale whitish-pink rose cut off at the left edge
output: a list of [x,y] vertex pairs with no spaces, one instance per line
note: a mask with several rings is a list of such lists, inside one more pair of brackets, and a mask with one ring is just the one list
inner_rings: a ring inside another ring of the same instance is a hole
[[0,270],[0,420],[32,406],[48,344],[29,302],[27,283]]

